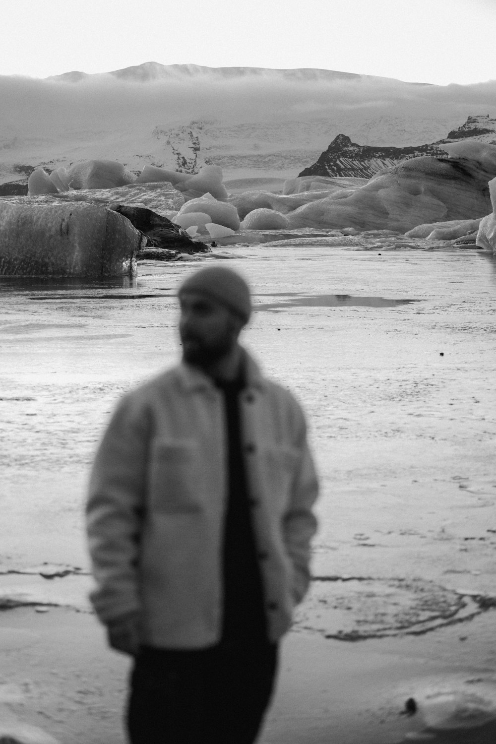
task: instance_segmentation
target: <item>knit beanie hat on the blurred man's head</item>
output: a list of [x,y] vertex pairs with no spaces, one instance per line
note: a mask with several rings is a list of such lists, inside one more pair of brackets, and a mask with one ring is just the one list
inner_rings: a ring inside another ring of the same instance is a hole
[[184,280],[179,287],[178,297],[183,292],[202,292],[236,312],[248,323],[251,315],[250,288],[242,276],[232,269],[206,266]]

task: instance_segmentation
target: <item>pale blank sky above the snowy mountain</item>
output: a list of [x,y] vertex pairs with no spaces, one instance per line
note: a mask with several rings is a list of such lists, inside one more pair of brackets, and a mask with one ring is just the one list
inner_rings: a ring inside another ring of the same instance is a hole
[[0,75],[160,62],[496,80],[496,0],[1,0]]

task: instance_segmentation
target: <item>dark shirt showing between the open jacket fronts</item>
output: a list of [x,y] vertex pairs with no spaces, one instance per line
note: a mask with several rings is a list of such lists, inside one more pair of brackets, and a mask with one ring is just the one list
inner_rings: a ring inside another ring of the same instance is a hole
[[228,440],[228,503],[224,527],[224,622],[221,646],[268,644],[263,584],[251,523],[248,484],[242,453],[239,393],[242,378],[216,381],[225,400]]

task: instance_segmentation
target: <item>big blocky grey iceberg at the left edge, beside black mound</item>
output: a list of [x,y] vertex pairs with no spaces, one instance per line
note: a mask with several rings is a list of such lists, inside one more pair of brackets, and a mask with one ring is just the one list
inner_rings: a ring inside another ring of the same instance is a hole
[[126,275],[142,240],[129,219],[100,205],[0,202],[0,275]]

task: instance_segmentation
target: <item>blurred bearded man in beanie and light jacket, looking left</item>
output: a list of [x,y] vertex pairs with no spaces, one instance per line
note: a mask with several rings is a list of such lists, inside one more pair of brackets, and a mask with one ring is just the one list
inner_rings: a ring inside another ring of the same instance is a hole
[[238,337],[245,280],[178,292],[182,362],[127,394],[91,476],[92,600],[135,656],[132,744],[251,744],[309,584],[317,479],[300,406]]

